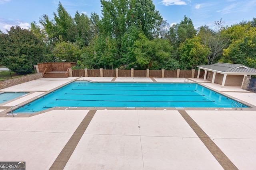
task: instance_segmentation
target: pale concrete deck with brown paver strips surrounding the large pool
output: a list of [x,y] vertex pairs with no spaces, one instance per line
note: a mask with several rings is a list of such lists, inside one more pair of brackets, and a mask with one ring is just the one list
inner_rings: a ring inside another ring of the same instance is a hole
[[[0,161],[27,170],[256,169],[256,94],[188,78],[251,108],[55,107],[6,115],[78,77],[41,78],[1,92],[30,92],[0,104]],[[185,78],[84,77],[95,82],[184,82]]]

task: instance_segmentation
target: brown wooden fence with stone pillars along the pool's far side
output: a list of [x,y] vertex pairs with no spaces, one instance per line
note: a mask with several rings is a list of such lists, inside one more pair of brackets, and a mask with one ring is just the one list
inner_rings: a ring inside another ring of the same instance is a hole
[[[197,77],[196,70],[72,70],[73,77],[156,77],[156,78],[194,78]],[[200,71],[200,77],[204,75],[204,71]]]

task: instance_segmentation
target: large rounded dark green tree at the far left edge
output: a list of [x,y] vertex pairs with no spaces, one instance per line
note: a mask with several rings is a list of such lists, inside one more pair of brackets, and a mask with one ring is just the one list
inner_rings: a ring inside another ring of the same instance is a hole
[[44,62],[45,45],[30,30],[12,26],[0,35],[0,63],[14,72],[32,73],[34,64]]

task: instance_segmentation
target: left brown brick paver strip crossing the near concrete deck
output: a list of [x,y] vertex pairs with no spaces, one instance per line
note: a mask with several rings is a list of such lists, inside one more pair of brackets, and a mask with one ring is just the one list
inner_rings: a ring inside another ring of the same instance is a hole
[[63,170],[97,110],[89,110],[49,170]]

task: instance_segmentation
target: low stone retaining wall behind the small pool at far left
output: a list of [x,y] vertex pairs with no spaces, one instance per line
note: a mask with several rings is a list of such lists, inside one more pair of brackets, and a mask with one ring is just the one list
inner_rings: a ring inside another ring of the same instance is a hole
[[17,84],[21,84],[24,82],[29,82],[42,77],[43,77],[43,73],[36,73],[36,74],[30,74],[28,76],[22,76],[22,77],[13,78],[10,80],[0,81],[0,89],[8,88],[10,86],[15,86]]

